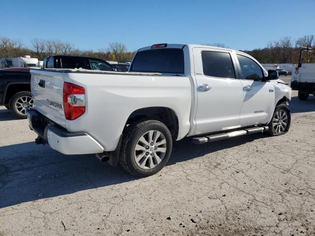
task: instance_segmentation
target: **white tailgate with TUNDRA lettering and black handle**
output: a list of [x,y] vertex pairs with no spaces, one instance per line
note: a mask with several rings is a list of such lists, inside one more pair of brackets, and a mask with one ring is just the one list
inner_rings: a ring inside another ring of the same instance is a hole
[[65,128],[63,73],[49,70],[31,70],[31,75],[31,91],[35,109]]

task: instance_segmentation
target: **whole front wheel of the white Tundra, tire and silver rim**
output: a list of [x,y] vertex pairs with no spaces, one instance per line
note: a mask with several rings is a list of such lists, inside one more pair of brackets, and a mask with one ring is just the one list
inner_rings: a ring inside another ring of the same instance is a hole
[[291,114],[288,107],[280,104],[276,107],[273,117],[268,124],[270,136],[278,136],[287,133],[291,124]]

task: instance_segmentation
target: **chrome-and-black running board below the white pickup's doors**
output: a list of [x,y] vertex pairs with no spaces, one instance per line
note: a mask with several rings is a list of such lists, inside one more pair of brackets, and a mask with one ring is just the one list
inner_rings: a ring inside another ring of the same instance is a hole
[[268,126],[252,127],[252,128],[247,128],[244,130],[232,131],[229,133],[212,134],[212,135],[208,135],[205,137],[191,138],[191,142],[193,144],[205,144],[208,142],[214,142],[214,141],[218,141],[218,140],[222,140],[222,139],[228,139],[228,138],[232,138],[232,137],[236,137],[236,136],[260,133],[260,132],[268,131],[268,129],[269,129]]

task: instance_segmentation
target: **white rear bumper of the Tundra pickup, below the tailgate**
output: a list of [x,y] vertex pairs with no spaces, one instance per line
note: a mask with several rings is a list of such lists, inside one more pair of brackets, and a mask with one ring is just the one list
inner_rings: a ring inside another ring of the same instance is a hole
[[104,148],[86,133],[71,133],[34,109],[27,111],[30,128],[38,134],[36,143],[48,143],[63,154],[101,153]]

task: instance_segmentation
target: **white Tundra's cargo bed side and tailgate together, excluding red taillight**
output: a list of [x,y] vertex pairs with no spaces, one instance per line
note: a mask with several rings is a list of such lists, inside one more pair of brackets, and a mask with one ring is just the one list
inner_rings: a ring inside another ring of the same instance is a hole
[[[116,148],[127,118],[141,108],[170,108],[178,116],[178,139],[189,132],[191,88],[188,77],[61,70],[31,70],[31,73],[35,109],[70,132],[91,135],[106,151]],[[45,89],[38,87],[40,78],[46,80]],[[75,120],[66,120],[63,110],[47,102],[48,99],[63,104],[63,81],[86,90],[86,112]]]

